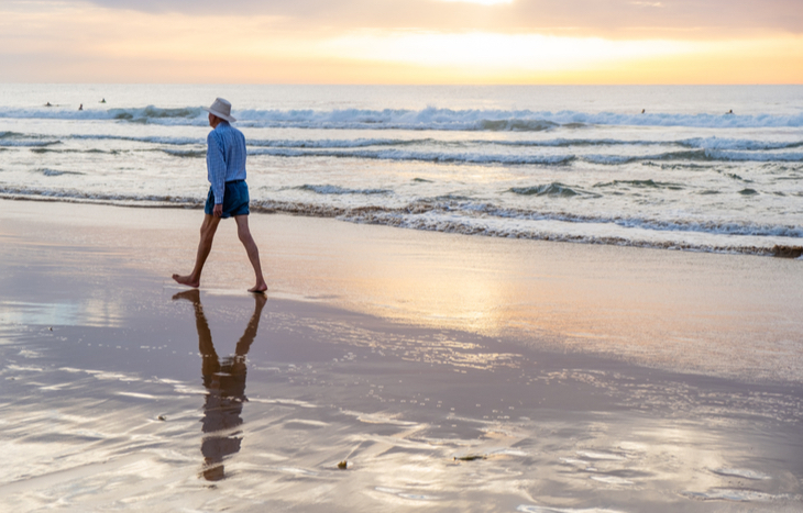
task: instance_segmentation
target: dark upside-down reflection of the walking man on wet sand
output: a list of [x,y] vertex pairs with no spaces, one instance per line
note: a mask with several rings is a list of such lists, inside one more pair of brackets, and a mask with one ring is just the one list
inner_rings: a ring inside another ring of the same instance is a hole
[[205,434],[201,443],[204,478],[208,481],[219,481],[226,477],[223,458],[240,450],[242,431],[239,427],[243,423],[240,415],[243,402],[248,401],[245,398],[245,355],[256,337],[266,298],[262,294],[254,295],[254,314],[251,315],[243,336],[237,343],[234,355],[223,358],[222,361],[215,352],[212,333],[209,331],[209,323],[204,315],[198,290],[177,293],[173,299],[186,299],[195,306],[198,348],[204,358],[201,377],[204,387],[207,389],[204,419],[201,419],[201,430]]

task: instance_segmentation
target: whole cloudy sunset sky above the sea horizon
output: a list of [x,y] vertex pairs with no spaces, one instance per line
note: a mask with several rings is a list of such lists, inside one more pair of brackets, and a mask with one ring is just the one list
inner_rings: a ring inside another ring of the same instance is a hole
[[0,82],[803,83],[803,0],[2,0]]

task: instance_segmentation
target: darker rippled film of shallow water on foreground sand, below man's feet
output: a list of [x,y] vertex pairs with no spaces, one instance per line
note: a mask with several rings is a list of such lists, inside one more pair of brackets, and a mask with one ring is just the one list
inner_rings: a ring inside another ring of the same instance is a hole
[[[795,511],[803,501],[795,387],[522,353],[273,300],[243,355],[237,337],[255,300],[202,294],[221,361],[245,356],[210,379],[198,313],[170,293],[124,304],[132,313],[116,326],[4,326],[8,506]],[[244,402],[224,383],[238,375]]]

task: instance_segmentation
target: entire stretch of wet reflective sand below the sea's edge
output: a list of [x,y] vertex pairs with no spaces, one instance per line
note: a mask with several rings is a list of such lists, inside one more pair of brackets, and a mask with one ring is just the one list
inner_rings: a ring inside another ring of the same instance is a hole
[[798,260],[200,215],[0,200],[3,509],[803,506]]

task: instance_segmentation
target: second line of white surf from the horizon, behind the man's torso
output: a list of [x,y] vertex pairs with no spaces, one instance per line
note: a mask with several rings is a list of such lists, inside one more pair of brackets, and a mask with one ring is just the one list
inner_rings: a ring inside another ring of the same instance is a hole
[[[166,115],[166,114],[165,114]],[[64,141],[131,141],[157,145],[150,148],[177,157],[204,156],[205,140],[201,137],[119,136],[108,134],[75,134],[58,138],[37,134],[0,132],[0,147],[30,148],[47,152],[76,152],[58,147]],[[170,146],[198,146],[195,149],[172,149]],[[565,165],[574,160],[602,166],[632,163],[803,163],[802,141],[756,141],[738,138],[697,137],[679,141],[627,141],[615,138],[546,138],[530,141],[440,141],[432,137],[369,137],[323,140],[262,140],[249,138],[250,155],[277,157],[336,157],[380,160],[411,160],[453,164],[501,165]],[[656,146],[662,150],[635,153],[636,148]],[[678,149],[672,149],[672,147]],[[494,152],[494,148],[551,148],[544,154],[534,152]],[[583,147],[601,147],[610,153],[587,154]],[[556,154],[558,148],[564,152]],[[616,148],[629,148],[618,150]],[[144,148],[148,149],[148,148]],[[103,152],[91,148],[82,152]]]

